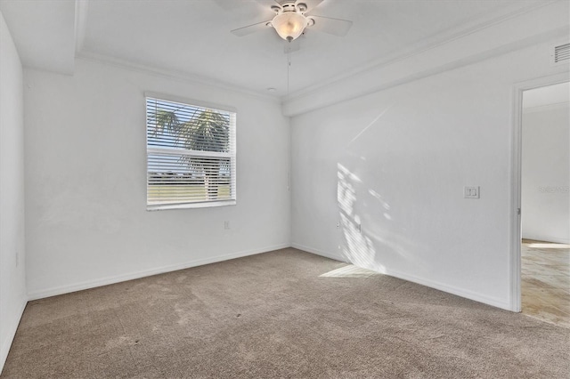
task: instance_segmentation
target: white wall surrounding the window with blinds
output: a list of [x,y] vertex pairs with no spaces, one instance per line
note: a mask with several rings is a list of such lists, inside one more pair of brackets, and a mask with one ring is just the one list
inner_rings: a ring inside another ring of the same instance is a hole
[[[24,81],[30,298],[289,246],[278,102],[92,60]],[[146,211],[145,91],[237,109],[237,206]]]

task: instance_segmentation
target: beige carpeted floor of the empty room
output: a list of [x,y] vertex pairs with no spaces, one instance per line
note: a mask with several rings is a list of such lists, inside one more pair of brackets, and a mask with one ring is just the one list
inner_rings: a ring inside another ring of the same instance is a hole
[[570,329],[284,249],[29,302],[4,378],[567,378]]

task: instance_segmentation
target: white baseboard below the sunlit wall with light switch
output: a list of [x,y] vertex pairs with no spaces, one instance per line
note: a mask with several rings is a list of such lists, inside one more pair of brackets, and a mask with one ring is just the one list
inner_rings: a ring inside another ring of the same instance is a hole
[[[314,247],[304,246],[304,245],[300,245],[297,243],[293,243],[293,244],[291,244],[291,246],[295,247],[299,250],[303,250],[307,253],[322,255],[324,257],[327,257],[330,259],[335,259],[335,260],[340,261],[340,262],[348,262],[346,260],[346,258],[343,256],[340,256],[338,254],[330,254],[328,252],[323,252],[322,250],[316,249]],[[352,263],[352,262],[348,262],[348,263]],[[364,269],[371,270],[370,267],[364,267]],[[466,291],[466,290],[463,290],[461,288],[457,288],[455,286],[448,286],[448,285],[445,285],[443,283],[436,282],[434,280],[429,280],[426,278],[419,278],[419,277],[416,277],[413,275],[405,274],[405,273],[400,272],[400,271],[389,270],[389,269],[386,270],[385,274],[389,275],[391,277],[394,277],[394,278],[400,278],[400,279],[403,279],[403,280],[406,280],[406,281],[409,281],[412,283],[416,283],[416,284],[419,284],[421,286],[428,286],[430,288],[435,288],[439,291],[444,291],[448,294],[455,294],[455,295],[458,295],[460,297],[464,297],[466,299],[473,300],[475,302],[483,302],[484,304],[491,305],[491,306],[497,307],[497,308],[501,308],[503,310],[512,310],[510,302],[502,302],[500,299],[495,299],[492,297],[477,294],[475,292]]]

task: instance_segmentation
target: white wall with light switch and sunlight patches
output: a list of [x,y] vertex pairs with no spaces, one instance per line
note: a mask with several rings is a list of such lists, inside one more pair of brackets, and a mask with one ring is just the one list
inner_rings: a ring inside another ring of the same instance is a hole
[[513,88],[567,72],[549,45],[293,117],[293,246],[512,309]]

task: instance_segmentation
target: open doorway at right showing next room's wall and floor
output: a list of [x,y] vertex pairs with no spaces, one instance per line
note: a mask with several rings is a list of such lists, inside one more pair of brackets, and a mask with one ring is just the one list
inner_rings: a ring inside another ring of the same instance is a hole
[[570,327],[570,84],[522,92],[521,311]]

